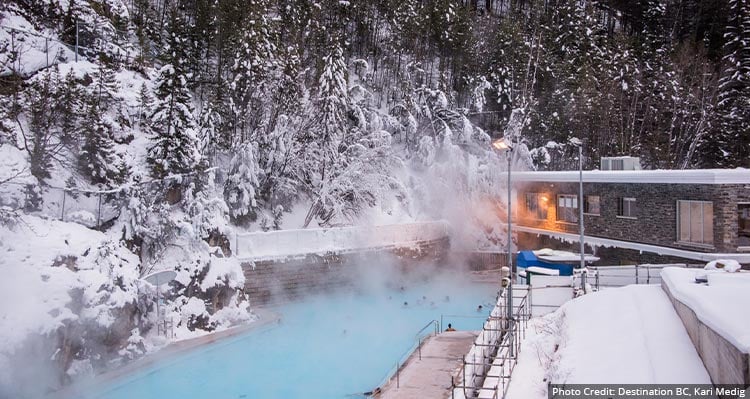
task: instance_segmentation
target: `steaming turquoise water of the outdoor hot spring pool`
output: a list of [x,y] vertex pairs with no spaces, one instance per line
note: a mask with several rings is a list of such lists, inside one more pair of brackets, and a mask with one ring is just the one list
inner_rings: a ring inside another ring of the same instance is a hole
[[[360,397],[383,382],[430,320],[440,320],[441,315],[486,316],[495,295],[492,285],[433,282],[403,291],[310,297],[274,309],[282,316],[278,325],[192,350],[86,397]],[[478,317],[444,316],[443,329],[452,323],[459,330],[476,330],[482,322]],[[431,331],[428,328],[424,335]]]

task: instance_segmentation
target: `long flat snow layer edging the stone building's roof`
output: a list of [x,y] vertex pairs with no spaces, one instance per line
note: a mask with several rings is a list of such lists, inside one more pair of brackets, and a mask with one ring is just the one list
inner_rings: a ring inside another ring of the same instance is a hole
[[[577,182],[578,171],[513,172],[516,182]],[[750,169],[585,170],[585,183],[750,184]]]

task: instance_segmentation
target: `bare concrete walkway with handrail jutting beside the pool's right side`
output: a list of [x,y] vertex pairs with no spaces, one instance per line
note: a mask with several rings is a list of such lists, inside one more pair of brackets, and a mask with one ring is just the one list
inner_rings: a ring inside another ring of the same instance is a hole
[[[415,351],[401,368],[399,387],[394,376],[377,398],[439,399],[450,397],[451,376],[456,376],[461,358],[469,351],[478,332],[444,332],[422,344],[422,360]],[[458,381],[458,379],[455,379]]]

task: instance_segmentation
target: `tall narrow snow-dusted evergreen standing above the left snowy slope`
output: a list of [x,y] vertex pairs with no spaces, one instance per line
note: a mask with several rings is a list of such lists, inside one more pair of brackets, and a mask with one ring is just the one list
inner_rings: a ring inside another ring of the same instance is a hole
[[156,98],[149,121],[148,163],[156,177],[190,172],[200,158],[182,24],[182,18],[172,10],[164,65],[154,82]]

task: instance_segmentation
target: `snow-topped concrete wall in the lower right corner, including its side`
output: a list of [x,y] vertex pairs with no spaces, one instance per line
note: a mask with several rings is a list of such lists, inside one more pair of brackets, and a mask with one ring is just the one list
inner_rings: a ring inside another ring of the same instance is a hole
[[750,384],[750,273],[666,268],[662,289],[672,301],[714,384]]

